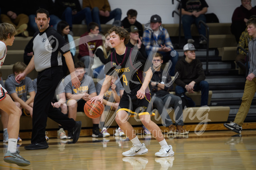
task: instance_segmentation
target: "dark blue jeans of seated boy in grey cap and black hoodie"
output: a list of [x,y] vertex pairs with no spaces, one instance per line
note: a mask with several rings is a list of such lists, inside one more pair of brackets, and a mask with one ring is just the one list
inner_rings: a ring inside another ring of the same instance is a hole
[[[209,84],[207,81],[203,80],[203,81],[200,81],[200,83],[195,84],[194,91],[200,91],[200,90],[201,90],[201,106],[208,105]],[[175,87],[176,95],[185,94],[186,91],[187,90],[181,86]],[[188,100],[189,100],[189,98],[188,98]]]

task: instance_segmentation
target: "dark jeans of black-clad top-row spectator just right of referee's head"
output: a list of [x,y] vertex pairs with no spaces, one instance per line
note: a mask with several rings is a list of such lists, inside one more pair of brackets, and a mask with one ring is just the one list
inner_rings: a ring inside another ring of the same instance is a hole
[[75,15],[72,15],[72,8],[67,7],[61,17],[63,20],[68,22],[68,25],[72,28],[72,24],[81,24],[85,19],[86,24],[88,25],[92,22],[90,7],[86,7],[81,11],[77,12]]

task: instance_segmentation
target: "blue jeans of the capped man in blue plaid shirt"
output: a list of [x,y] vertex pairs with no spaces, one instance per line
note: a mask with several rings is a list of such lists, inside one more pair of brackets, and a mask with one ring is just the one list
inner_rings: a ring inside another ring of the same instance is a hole
[[[146,54],[147,56],[149,56],[151,50],[146,50]],[[169,60],[172,61],[172,67],[169,71],[169,75],[174,76],[175,74],[175,65],[178,61],[179,58],[179,54],[177,53],[177,51],[173,50],[173,51],[169,51],[169,52],[162,52],[162,51],[158,51],[158,53],[163,55],[163,63],[168,62]]]

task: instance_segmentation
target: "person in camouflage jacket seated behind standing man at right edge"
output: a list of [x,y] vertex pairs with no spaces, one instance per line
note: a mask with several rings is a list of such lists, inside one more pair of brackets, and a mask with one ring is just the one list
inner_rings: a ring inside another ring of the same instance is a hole
[[[238,46],[244,48],[246,51],[248,51],[248,43],[253,40],[252,36],[249,36],[247,29],[241,34]],[[237,65],[245,71],[246,69],[246,53],[239,49],[239,54],[237,54],[236,58]]]

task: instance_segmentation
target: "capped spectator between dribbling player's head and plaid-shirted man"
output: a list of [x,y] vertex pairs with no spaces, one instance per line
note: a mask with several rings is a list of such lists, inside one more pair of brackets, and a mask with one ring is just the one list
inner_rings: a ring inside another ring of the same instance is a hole
[[126,44],[125,46],[133,48],[134,45],[137,43],[137,47],[140,53],[143,55],[143,57],[147,58],[146,47],[139,38],[139,31],[140,30],[135,25],[132,25],[128,29],[128,32],[130,34],[130,39],[128,44]]

